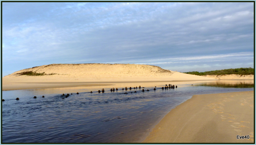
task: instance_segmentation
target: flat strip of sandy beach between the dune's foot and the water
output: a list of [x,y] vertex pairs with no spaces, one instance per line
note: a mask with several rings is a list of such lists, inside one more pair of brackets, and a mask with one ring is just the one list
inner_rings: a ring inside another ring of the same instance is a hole
[[[177,74],[176,76],[174,74]],[[181,75],[181,76],[180,76]],[[188,74],[185,74],[188,75]],[[2,91],[7,90],[25,90],[39,88],[59,88],[76,86],[108,86],[118,83],[152,83],[154,82],[189,82],[189,81],[212,81],[216,79],[191,76],[183,78],[182,73],[173,73],[172,76],[131,76],[131,77],[3,77]],[[139,85],[138,85],[139,86]],[[141,85],[142,86],[142,85]],[[124,86],[122,86],[124,87]]]

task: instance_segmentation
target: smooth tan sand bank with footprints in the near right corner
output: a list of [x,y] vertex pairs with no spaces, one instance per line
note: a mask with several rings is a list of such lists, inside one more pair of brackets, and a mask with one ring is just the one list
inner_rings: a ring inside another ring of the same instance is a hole
[[194,95],[165,115],[143,142],[253,143],[254,91]]

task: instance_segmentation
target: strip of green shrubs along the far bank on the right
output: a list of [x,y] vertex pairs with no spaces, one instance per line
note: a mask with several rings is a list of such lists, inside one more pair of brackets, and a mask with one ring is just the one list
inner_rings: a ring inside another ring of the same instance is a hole
[[238,75],[254,75],[254,68],[230,68],[230,69],[223,69],[223,70],[215,70],[215,71],[208,71],[208,72],[184,72],[188,74],[195,74],[195,75],[224,75],[224,74],[238,74]]

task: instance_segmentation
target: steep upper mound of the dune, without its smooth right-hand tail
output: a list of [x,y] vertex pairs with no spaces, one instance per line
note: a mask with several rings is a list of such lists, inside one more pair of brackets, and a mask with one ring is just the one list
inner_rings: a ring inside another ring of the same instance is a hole
[[37,72],[65,76],[89,75],[171,75],[173,72],[159,66],[134,64],[51,64],[23,69],[8,76],[18,76],[21,72]]

